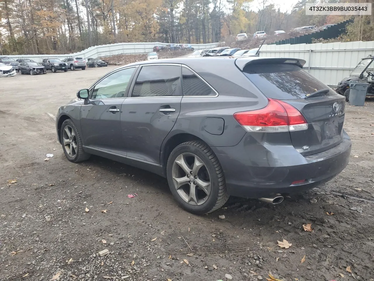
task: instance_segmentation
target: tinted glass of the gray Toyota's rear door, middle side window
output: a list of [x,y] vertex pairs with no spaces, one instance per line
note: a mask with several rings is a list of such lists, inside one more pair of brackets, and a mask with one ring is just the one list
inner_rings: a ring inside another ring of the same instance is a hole
[[135,81],[132,97],[181,96],[181,67],[143,66]]

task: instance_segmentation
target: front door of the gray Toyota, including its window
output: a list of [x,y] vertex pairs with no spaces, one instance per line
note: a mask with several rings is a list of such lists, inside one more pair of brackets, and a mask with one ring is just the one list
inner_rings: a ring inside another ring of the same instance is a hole
[[111,73],[91,88],[90,99],[80,109],[85,146],[126,155],[120,115],[135,68]]

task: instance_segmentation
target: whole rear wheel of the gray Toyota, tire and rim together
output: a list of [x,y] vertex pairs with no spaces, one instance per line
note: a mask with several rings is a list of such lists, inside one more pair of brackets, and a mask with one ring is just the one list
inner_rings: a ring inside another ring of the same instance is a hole
[[[184,163],[187,163],[187,168],[189,169],[187,169],[189,171],[188,174],[181,168],[181,165],[177,163],[178,161],[180,162],[181,159],[183,159]],[[200,164],[202,163],[203,166],[193,171],[193,163],[195,163],[195,161]],[[196,175],[193,174],[195,172]],[[202,215],[213,212],[221,208],[229,199],[221,164],[212,149],[200,141],[184,142],[174,148],[168,158],[166,175],[171,193],[175,200],[183,209],[193,214]],[[195,178],[193,182],[192,180],[189,181],[189,176],[192,176],[191,179]],[[185,178],[183,181],[185,183],[181,184],[178,190],[173,177],[174,179]],[[203,188],[199,188],[198,181],[202,184],[210,183],[209,186],[205,185],[209,192],[203,191]],[[187,194],[192,190],[191,186],[194,186],[194,196]]]

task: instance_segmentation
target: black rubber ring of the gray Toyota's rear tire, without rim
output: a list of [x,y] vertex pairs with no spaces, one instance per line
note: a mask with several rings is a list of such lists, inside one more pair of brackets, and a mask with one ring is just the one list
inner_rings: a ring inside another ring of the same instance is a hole
[[[185,202],[180,195],[178,194],[177,190],[174,187],[173,179],[172,179],[172,167],[175,159],[178,157],[178,155],[189,152],[197,155],[205,164],[206,169],[209,172],[209,177],[211,180],[211,194],[209,194],[208,199],[205,203],[203,203],[200,206],[193,206]],[[218,199],[218,193],[219,193],[219,182],[217,178],[217,172],[214,168],[214,165],[212,164],[209,157],[205,154],[205,152],[202,151],[202,149],[198,148],[195,145],[191,145],[188,143],[182,143],[181,145],[178,145],[169,155],[168,163],[166,166],[166,176],[168,179],[169,188],[171,190],[171,193],[173,194],[175,200],[177,200],[178,204],[182,206],[182,208],[186,209],[188,212],[194,213],[194,214],[206,214],[214,207],[215,203]]]

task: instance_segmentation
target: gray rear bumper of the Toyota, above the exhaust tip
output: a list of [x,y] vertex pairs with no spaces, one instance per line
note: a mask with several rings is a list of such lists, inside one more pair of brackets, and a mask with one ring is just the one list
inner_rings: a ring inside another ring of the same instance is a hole
[[[246,136],[236,146],[212,147],[226,177],[232,196],[260,198],[275,194],[300,193],[338,175],[348,164],[352,141],[343,141],[327,151],[303,157],[293,146],[263,148],[248,143]],[[305,179],[303,183],[292,182]]]

